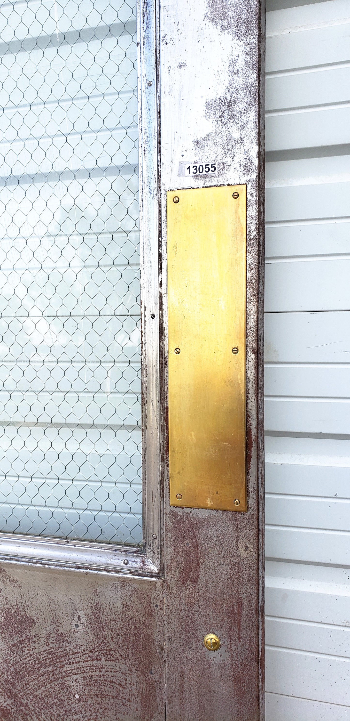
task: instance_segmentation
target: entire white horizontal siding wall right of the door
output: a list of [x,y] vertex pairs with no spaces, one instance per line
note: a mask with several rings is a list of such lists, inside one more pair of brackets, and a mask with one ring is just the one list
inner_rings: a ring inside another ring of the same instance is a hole
[[350,0],[282,2],[266,18],[266,721],[345,721]]

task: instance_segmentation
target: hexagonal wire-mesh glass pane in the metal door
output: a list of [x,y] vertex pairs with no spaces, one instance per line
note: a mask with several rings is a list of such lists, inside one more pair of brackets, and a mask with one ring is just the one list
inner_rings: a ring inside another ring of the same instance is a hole
[[135,0],[0,9],[0,531],[140,545]]

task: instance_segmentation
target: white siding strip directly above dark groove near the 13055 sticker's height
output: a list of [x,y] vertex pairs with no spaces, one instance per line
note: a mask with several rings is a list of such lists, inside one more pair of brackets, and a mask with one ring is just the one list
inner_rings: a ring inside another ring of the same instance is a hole
[[350,142],[350,107],[267,115],[266,151],[318,148]]

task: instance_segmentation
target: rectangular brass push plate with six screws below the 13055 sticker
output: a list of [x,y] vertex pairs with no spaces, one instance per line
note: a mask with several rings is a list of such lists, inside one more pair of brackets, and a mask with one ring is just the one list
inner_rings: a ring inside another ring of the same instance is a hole
[[246,185],[167,193],[170,503],[246,503]]

